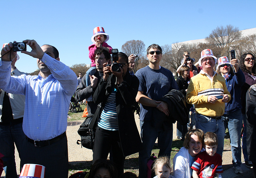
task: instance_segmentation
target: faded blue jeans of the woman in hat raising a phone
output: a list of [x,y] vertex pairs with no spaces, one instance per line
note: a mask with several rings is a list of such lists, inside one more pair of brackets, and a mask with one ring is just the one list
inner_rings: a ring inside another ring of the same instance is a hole
[[224,127],[225,129],[228,128],[230,135],[233,166],[241,166],[242,112],[241,110],[232,111],[222,118],[224,120]]

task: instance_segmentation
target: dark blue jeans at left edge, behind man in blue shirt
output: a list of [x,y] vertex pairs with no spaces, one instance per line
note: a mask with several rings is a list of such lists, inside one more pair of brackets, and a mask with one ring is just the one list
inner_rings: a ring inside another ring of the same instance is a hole
[[4,155],[2,160],[4,162],[6,178],[17,178],[14,143],[20,156],[20,149],[24,138],[25,134],[22,130],[22,123],[0,125],[0,153]]

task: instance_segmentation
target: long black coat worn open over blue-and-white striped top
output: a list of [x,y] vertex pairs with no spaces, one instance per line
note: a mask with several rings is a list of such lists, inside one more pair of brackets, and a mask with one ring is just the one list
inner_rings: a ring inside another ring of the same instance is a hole
[[[104,82],[103,78],[100,79],[100,83],[93,95],[95,104],[102,102],[102,107],[104,107],[115,82],[116,76],[113,74],[108,77],[106,82]],[[127,72],[124,81],[118,86],[116,92],[118,131],[124,156],[137,153],[142,147],[140,134],[135,123],[134,113],[132,112],[132,104],[135,101],[138,87],[138,78],[136,76],[131,76],[129,72]]]

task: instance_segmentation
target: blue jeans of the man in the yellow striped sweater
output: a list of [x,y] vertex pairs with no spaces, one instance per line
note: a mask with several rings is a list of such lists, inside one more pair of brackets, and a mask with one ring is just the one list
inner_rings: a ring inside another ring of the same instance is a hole
[[222,156],[222,152],[224,149],[224,136],[225,136],[225,128],[223,119],[212,119],[205,115],[201,115],[196,113],[196,128],[201,129],[204,133],[206,132],[214,132],[218,137],[218,148],[216,153]]

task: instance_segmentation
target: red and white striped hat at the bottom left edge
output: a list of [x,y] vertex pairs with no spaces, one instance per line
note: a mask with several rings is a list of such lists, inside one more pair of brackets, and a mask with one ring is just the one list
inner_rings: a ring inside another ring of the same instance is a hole
[[39,164],[24,164],[19,178],[44,178],[45,167]]

